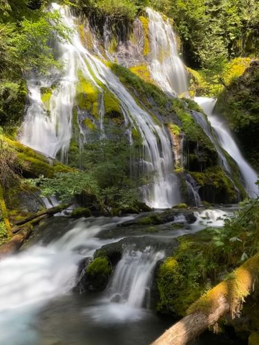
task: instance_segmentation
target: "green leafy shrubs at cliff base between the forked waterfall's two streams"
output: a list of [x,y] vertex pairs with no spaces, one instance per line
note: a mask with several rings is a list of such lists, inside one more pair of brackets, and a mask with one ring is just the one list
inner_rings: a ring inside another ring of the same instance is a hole
[[81,168],[68,173],[57,173],[55,178],[33,180],[42,188],[43,196],[58,195],[61,201],[75,196],[87,196],[87,203],[106,213],[119,213],[134,208],[140,181],[131,179],[130,163],[133,147],[122,130],[111,137],[86,144],[81,151]]

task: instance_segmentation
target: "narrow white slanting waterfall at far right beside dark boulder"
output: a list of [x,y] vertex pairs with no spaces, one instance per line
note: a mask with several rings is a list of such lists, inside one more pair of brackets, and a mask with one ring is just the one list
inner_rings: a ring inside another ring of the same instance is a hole
[[207,97],[195,97],[195,101],[202,107],[204,112],[207,114],[211,126],[218,135],[218,140],[220,145],[224,150],[226,150],[229,155],[236,161],[240,172],[244,179],[244,187],[247,190],[249,197],[256,197],[259,193],[258,186],[256,186],[256,181],[258,179],[258,174],[256,173],[247,161],[242,156],[238,145],[236,144],[231,132],[228,130],[226,124],[213,114],[213,109],[215,107],[216,99]]

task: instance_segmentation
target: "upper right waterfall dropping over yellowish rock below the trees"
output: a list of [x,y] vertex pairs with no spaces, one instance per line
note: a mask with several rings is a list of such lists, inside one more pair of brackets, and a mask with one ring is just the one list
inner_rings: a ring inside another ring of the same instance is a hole
[[187,92],[187,71],[178,55],[175,33],[162,16],[146,9],[149,19],[150,53],[148,55],[151,77],[164,92],[170,95]]

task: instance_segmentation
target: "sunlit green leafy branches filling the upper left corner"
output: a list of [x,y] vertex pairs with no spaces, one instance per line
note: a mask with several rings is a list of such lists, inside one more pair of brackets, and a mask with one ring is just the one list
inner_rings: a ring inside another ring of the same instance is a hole
[[26,100],[24,75],[59,67],[49,42],[67,39],[67,33],[59,14],[44,11],[41,1],[0,2],[0,126],[13,127],[21,119]]

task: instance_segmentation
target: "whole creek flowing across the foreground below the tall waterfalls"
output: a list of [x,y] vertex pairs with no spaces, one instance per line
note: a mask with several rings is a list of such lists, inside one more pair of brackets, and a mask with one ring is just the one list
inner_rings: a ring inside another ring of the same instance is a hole
[[[173,323],[151,309],[157,262],[176,237],[220,227],[232,212],[197,210],[194,224],[173,228],[185,221],[180,213],[156,233],[131,227],[122,232],[120,225],[133,221],[132,215],[46,221],[19,254],[0,262],[0,344],[148,344]],[[124,246],[104,292],[73,292],[81,259],[125,237],[131,244]]]

